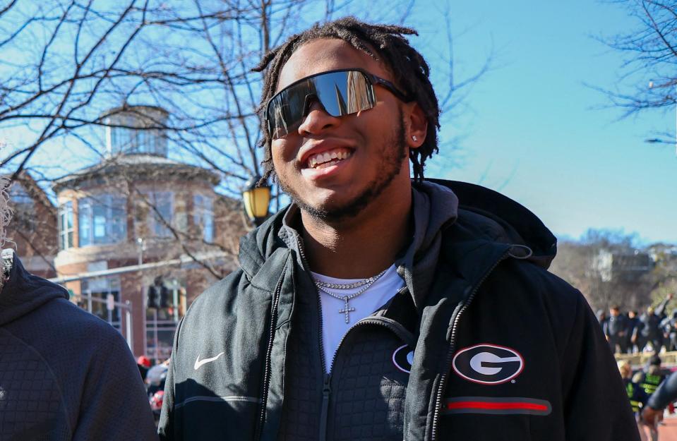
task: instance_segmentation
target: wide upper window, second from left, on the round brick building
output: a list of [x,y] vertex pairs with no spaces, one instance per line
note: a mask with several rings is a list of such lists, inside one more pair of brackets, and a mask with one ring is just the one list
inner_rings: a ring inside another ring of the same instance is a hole
[[125,198],[97,195],[78,202],[80,246],[124,241],[127,236]]

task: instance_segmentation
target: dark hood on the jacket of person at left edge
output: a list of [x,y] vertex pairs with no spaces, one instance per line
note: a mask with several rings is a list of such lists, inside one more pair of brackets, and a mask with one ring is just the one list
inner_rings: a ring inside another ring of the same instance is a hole
[[68,299],[66,289],[26,271],[13,250],[4,250],[3,258],[8,253],[11,253],[12,265],[0,291],[0,326],[31,313],[54,298]]

